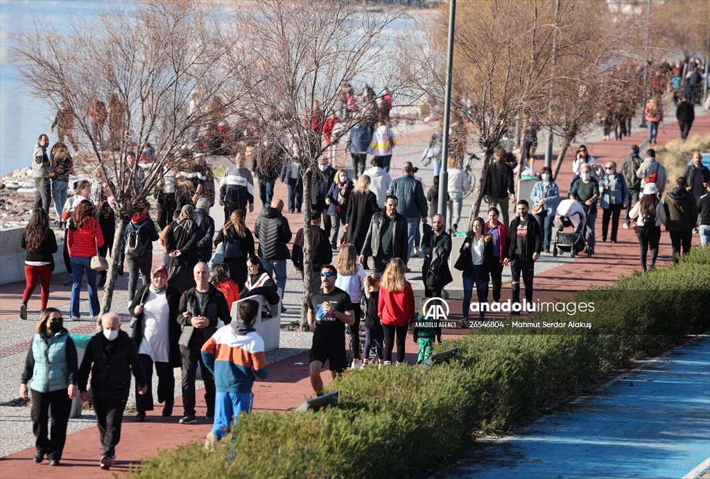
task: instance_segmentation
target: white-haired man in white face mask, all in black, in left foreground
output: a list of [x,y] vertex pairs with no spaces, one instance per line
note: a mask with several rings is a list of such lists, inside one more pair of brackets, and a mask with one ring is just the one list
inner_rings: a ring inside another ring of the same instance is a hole
[[87,382],[91,373],[94,412],[103,448],[99,466],[109,469],[116,459],[116,445],[121,440],[121,422],[131,391],[131,373],[136,378],[138,394],[146,394],[148,385],[136,344],[125,331],[121,331],[119,316],[106,313],[101,318],[101,325],[102,332],[89,340],[84,353],[79,368],[79,390],[82,400],[89,400]]

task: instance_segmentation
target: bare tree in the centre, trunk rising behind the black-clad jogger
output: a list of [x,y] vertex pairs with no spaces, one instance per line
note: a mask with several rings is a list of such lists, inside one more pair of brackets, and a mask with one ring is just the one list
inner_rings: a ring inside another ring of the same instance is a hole
[[[406,97],[408,79],[393,65],[402,62],[397,47],[403,32],[398,26],[410,20],[401,9],[378,12],[340,0],[262,0],[250,6],[249,11],[236,11],[240,21],[220,32],[225,43],[226,38],[239,38],[244,57],[230,54],[223,62],[236,70],[234,81],[246,92],[234,113],[258,126],[263,142],[289,145],[301,165],[305,277],[300,323],[306,329],[314,264],[311,196],[326,180],[317,169],[327,150],[322,123],[327,115],[339,113],[341,133],[349,131],[353,122],[342,114],[342,92],[348,84],[377,82],[400,101]],[[376,108],[371,113],[376,114]],[[260,168],[279,168],[283,160],[282,155],[266,158],[276,164]]]

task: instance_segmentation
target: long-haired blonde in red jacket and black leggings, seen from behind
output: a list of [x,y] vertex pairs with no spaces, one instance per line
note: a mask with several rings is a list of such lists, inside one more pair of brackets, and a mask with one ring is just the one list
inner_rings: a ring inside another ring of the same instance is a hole
[[[397,362],[404,362],[407,328],[414,324],[414,292],[405,279],[405,266],[400,258],[393,258],[385,268],[380,283],[378,316],[385,336],[385,365],[392,363],[392,350],[397,342]],[[396,339],[395,339],[396,337]]]

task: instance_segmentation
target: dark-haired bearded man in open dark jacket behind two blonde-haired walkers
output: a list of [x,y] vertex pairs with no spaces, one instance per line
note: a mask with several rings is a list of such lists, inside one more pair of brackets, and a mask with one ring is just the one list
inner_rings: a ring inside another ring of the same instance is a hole
[[397,197],[390,194],[385,200],[385,211],[373,214],[360,252],[361,265],[372,255],[375,272],[383,272],[392,258],[407,263],[407,220],[397,212],[397,203]]

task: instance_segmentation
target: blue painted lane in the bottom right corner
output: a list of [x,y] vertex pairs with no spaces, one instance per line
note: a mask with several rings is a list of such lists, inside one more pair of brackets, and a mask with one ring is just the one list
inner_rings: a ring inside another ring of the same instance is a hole
[[446,475],[694,478],[709,468],[710,338],[703,336],[518,436],[479,441]]

